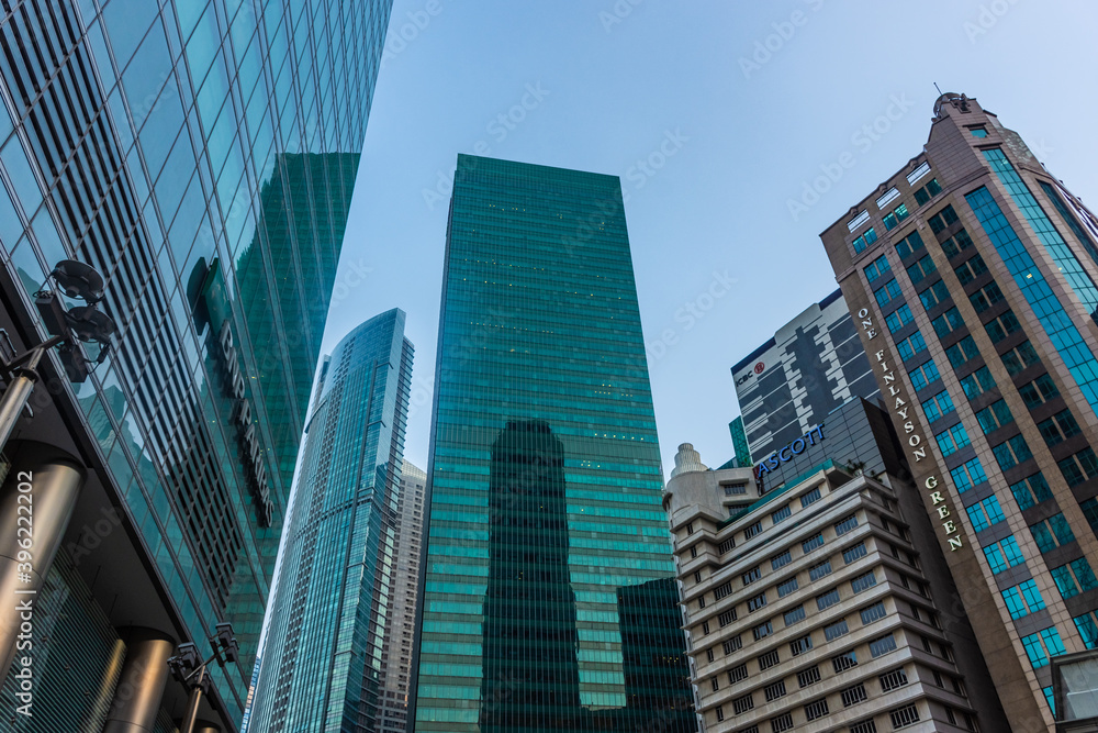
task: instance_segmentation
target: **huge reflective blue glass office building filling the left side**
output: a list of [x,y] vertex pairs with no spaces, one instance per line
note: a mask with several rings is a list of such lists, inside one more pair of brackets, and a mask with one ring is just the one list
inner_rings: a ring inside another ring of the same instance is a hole
[[212,667],[201,717],[238,726],[390,5],[0,10],[0,327],[16,351],[45,335],[33,293],[66,258],[107,278],[119,327],[86,381],[43,367],[7,449],[14,469],[27,441],[83,469],[40,568],[57,614],[26,730],[171,730],[186,691],[135,710],[163,684],[137,673],[179,642],[208,653],[222,622],[242,659]]

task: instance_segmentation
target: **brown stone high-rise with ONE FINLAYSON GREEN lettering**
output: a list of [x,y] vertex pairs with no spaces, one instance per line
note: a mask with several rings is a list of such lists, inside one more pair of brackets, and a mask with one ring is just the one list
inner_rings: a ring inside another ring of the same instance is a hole
[[1095,221],[948,93],[923,151],[821,235],[1018,731],[1053,724],[1050,657],[1098,644]]

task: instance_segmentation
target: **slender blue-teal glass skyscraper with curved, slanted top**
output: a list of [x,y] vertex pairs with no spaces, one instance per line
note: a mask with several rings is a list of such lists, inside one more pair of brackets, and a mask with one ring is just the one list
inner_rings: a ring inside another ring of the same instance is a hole
[[404,321],[401,310],[370,319],[322,367],[251,731],[381,730],[412,382]]

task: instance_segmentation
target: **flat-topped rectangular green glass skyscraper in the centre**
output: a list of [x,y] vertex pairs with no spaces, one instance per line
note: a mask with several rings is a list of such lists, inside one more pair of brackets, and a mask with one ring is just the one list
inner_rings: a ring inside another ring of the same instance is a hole
[[694,731],[619,180],[458,156],[417,733]]

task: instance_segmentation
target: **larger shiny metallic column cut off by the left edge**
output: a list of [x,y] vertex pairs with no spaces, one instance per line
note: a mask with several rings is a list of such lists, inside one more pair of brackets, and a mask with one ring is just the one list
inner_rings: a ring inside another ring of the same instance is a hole
[[83,467],[54,446],[12,441],[4,452],[11,468],[0,487],[0,684],[15,657],[21,623],[33,624],[85,479]]

